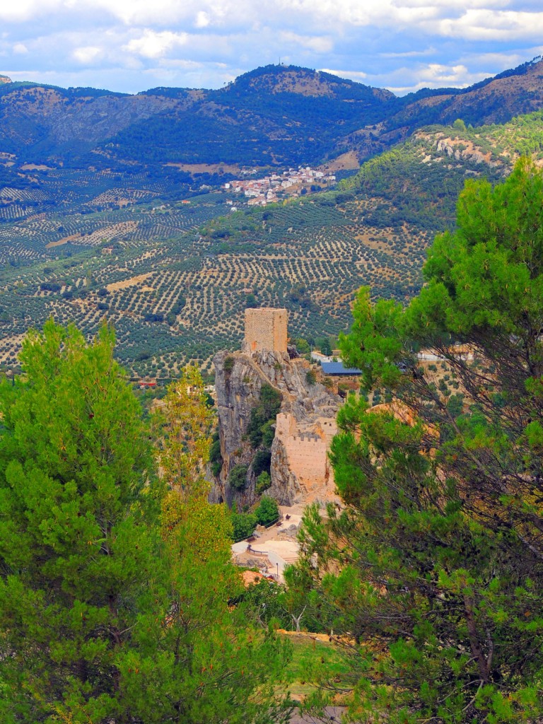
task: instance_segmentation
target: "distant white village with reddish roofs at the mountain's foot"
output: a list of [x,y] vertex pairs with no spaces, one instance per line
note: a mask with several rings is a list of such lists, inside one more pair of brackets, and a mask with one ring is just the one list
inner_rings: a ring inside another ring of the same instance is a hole
[[[256,174],[256,169],[245,172],[247,175]],[[224,189],[231,193],[243,194],[248,198],[248,206],[266,206],[267,203],[279,201],[278,193],[292,189],[291,196],[298,196],[303,189],[318,185],[321,190],[323,185],[333,184],[336,177],[333,174],[325,174],[323,171],[316,171],[309,166],[300,166],[298,169],[288,169],[282,174],[270,174],[261,179],[248,179],[243,181],[230,181],[224,184]],[[294,187],[294,188],[293,188]]]

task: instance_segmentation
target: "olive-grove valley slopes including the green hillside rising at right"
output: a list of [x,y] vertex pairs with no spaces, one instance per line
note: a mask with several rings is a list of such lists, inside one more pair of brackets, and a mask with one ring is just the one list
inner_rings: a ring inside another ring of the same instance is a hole
[[159,377],[237,347],[248,304],[285,306],[292,337],[347,330],[361,285],[418,291],[465,180],[502,178],[526,148],[538,160],[542,134],[541,114],[434,127],[337,190],[235,213],[224,193],[175,175],[33,171],[35,189],[0,197],[0,364],[16,366],[22,335],[48,316],[86,334],[111,321],[127,368]]

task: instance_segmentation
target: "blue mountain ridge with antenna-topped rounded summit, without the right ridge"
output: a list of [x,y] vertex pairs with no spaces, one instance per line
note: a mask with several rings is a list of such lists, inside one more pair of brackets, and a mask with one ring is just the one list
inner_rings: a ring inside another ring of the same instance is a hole
[[327,73],[269,66],[221,90],[137,96],[12,83],[0,91],[2,150],[73,166],[314,163],[395,96]]

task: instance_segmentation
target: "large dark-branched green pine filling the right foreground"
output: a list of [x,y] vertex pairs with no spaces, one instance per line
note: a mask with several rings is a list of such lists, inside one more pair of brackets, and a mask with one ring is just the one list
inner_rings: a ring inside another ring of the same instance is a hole
[[468,182],[424,274],[405,309],[368,290],[355,303],[347,364],[394,400],[372,411],[350,397],[340,411],[331,455],[345,508],[308,511],[295,580],[321,593],[308,615],[355,639],[355,720],[535,721],[542,172],[523,159],[495,188]]

